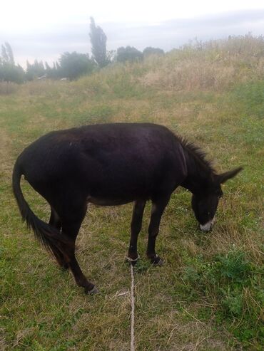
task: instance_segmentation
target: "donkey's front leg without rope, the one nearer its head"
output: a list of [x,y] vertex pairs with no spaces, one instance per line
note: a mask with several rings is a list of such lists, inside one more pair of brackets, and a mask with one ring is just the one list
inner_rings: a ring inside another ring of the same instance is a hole
[[170,197],[163,197],[156,201],[152,201],[151,222],[148,226],[147,256],[148,258],[150,258],[151,263],[158,264],[160,266],[163,264],[163,261],[156,254],[155,244],[156,244],[156,237],[159,231],[159,226],[161,223],[161,216],[168,204],[169,199]]

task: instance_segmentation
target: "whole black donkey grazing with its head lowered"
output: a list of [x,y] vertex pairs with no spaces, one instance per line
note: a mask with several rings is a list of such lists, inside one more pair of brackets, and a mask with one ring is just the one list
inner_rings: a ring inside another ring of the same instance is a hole
[[[216,174],[205,154],[166,127],[151,123],[113,123],[50,132],[19,155],[13,172],[14,196],[22,219],[77,285],[96,293],[75,257],[75,241],[88,203],[116,206],[134,201],[128,259],[138,259],[137,241],[146,201],[152,201],[147,257],[161,264],[155,243],[161,216],[178,186],[192,194],[200,229],[213,226],[220,184],[242,168]],[[49,224],[29,208],[21,175],[51,206]]]

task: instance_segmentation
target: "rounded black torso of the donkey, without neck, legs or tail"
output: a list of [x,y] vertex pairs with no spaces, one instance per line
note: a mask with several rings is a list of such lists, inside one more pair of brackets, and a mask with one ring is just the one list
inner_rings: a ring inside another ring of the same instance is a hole
[[176,184],[185,175],[177,137],[150,123],[51,132],[27,147],[18,162],[31,186],[51,203],[71,188],[101,205],[150,199],[168,178]]

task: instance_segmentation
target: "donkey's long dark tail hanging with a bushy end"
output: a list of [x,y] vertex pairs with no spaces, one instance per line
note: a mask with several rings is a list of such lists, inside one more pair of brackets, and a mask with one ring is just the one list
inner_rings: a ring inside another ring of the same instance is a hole
[[36,239],[41,241],[46,250],[53,253],[55,257],[62,254],[66,258],[68,256],[68,249],[70,249],[74,243],[58,229],[41,221],[30,209],[29,204],[26,202],[21,192],[20,180],[22,174],[24,173],[21,170],[19,162],[16,161],[13,171],[12,186],[23,221],[26,221],[28,228],[33,229]]

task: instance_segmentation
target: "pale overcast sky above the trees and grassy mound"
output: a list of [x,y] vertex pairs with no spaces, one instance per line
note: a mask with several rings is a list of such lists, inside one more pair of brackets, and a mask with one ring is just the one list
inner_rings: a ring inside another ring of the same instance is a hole
[[[2,1],[1,1],[2,2]],[[264,0],[7,0],[1,4],[0,44],[16,63],[56,61],[61,53],[91,53],[89,18],[103,28],[107,49],[172,48],[193,38],[264,34]]]

